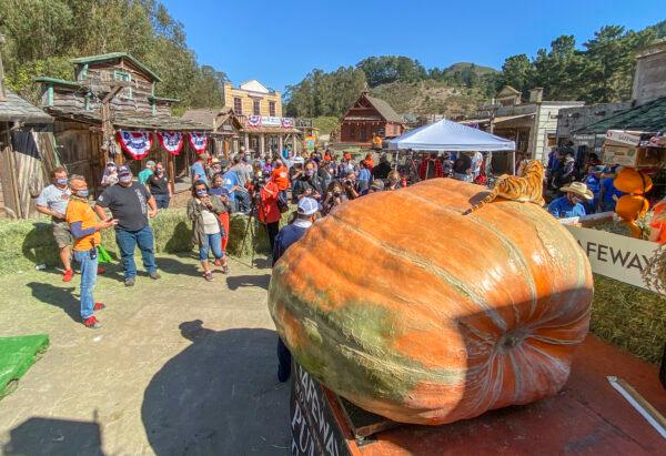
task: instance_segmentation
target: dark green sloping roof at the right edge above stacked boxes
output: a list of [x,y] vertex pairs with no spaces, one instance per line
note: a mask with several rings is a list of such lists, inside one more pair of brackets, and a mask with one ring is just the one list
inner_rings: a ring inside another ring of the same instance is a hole
[[666,97],[622,111],[599,122],[574,130],[576,134],[605,134],[608,130],[657,132],[666,130]]

